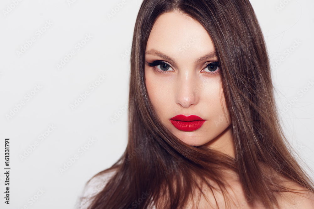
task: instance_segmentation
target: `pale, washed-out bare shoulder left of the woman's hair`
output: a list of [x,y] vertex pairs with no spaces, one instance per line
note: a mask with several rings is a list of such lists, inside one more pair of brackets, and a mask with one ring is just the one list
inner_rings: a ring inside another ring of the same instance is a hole
[[76,209],[86,209],[95,197],[106,186],[111,177],[116,174],[115,170],[100,172],[88,180],[84,186],[81,195],[78,198]]

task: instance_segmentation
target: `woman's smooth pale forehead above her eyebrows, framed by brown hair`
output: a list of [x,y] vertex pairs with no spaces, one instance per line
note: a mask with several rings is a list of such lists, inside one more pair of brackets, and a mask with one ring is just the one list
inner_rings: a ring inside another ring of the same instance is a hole
[[204,27],[190,16],[178,12],[161,14],[155,21],[146,46],[178,56],[202,56],[214,51],[214,44]]

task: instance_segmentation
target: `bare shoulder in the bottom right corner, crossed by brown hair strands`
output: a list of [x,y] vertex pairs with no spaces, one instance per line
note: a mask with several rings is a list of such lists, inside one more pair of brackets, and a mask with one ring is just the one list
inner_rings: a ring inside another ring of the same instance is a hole
[[289,180],[284,181],[284,186],[294,192],[281,192],[278,195],[280,208],[314,209],[314,193],[306,191],[301,185]]

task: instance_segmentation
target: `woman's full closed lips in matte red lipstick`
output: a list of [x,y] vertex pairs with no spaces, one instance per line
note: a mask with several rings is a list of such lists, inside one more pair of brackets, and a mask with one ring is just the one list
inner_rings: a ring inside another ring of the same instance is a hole
[[196,115],[177,115],[171,118],[170,122],[180,131],[195,131],[201,128],[205,120]]

